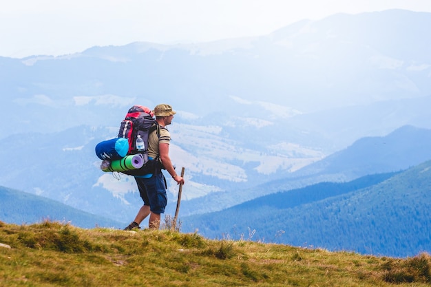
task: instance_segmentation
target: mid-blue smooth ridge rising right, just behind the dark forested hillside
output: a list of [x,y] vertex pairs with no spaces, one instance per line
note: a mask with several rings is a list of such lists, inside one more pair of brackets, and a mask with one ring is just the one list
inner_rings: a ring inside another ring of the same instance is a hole
[[375,173],[401,171],[431,160],[430,147],[431,129],[400,127],[386,136],[360,138],[346,149],[298,171],[285,173],[278,180],[189,200],[181,204],[182,213],[191,215],[204,213],[205,210],[220,211],[262,195],[306,187],[317,182],[348,182]]

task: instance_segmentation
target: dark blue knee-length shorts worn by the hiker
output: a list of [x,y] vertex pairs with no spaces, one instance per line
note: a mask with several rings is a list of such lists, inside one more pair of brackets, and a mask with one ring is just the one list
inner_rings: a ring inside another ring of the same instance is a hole
[[166,180],[163,173],[154,173],[151,178],[135,178],[140,198],[144,205],[149,205],[152,213],[165,213],[167,204]]

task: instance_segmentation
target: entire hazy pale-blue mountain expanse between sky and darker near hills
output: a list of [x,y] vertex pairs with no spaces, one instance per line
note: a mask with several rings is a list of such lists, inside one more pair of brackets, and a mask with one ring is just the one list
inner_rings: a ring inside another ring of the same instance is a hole
[[185,217],[414,167],[431,158],[430,24],[387,10],[211,43],[0,57],[0,185],[129,222],[136,184],[103,173],[94,147],[134,104],[177,111]]

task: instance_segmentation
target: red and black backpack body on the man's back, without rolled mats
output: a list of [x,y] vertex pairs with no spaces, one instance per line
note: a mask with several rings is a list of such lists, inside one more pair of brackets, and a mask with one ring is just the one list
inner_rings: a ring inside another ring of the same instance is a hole
[[[134,105],[127,111],[125,119],[121,121],[120,130],[118,131],[118,138],[127,138],[129,141],[129,151],[127,154],[147,153],[148,151],[148,136],[151,131],[156,130],[158,127],[156,119],[151,109]],[[160,132],[158,132],[159,134]],[[138,151],[136,149],[136,138],[144,140],[145,150]]]

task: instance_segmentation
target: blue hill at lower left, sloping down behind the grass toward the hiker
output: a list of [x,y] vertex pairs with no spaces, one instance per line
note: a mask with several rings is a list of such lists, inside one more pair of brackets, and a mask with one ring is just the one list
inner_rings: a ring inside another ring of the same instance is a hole
[[0,187],[0,220],[13,224],[34,224],[43,220],[70,222],[81,228],[123,228],[125,224],[74,209],[60,202],[6,187]]

